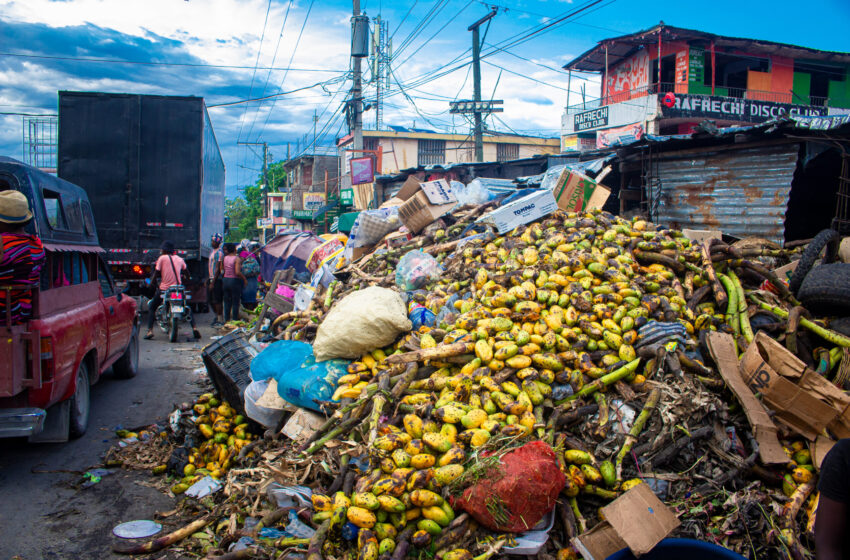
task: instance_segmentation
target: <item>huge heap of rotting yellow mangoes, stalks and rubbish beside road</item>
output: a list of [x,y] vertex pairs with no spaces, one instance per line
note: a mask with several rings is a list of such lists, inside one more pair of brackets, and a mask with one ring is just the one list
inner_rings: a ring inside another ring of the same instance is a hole
[[[327,420],[294,443],[267,432],[203,518],[231,521],[189,548],[223,554],[249,537],[223,557],[568,559],[672,536],[810,555],[817,464],[850,435],[850,399],[830,381],[850,339],[807,318],[773,272],[794,251],[695,243],[599,211],[463,235],[485,210],[364,257],[274,321],[282,341],[318,348],[334,308],[370,286],[432,315],[368,351],[325,336],[317,358],[356,356],[316,403]],[[370,311],[347,313],[362,345]],[[786,408],[780,389],[811,408]],[[311,503],[266,501],[281,484],[306,485]],[[241,525],[288,526],[290,509],[309,537]]]

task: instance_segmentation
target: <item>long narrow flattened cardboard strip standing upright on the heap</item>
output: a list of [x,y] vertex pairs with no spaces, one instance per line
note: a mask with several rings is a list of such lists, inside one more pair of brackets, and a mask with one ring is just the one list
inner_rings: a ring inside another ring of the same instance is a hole
[[779,443],[778,429],[773,420],[767,414],[764,405],[744,383],[738,373],[738,357],[735,352],[735,342],[731,335],[726,333],[711,332],[708,335],[708,350],[720,376],[726,382],[726,386],[732,390],[738,398],[738,402],[744,408],[753,435],[759,444],[759,457],[766,465],[784,465],[788,462],[788,456],[782,450]]

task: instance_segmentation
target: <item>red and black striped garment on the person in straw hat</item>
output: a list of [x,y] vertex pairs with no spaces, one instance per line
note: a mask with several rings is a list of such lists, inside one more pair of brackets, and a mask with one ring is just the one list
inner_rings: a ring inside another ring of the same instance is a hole
[[[12,323],[21,323],[32,316],[32,288],[38,286],[45,254],[41,240],[34,235],[4,233],[3,255],[0,257],[0,286],[21,286],[12,290]],[[6,293],[0,297],[0,324],[6,324]]]

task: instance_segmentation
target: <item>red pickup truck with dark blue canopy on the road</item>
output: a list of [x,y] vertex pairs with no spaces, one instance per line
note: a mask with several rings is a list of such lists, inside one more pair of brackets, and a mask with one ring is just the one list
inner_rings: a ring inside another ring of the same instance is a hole
[[[83,189],[0,157],[7,189],[29,200],[26,231],[41,238],[47,260],[32,318],[10,325],[0,317],[0,437],[66,441],[86,431],[91,384],[110,367],[136,375],[136,302],[115,289]],[[12,297],[7,287],[0,297]]]

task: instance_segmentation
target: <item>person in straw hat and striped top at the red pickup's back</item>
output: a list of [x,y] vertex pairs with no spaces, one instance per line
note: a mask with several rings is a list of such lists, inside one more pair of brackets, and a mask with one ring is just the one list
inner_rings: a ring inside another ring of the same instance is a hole
[[[0,325],[7,313],[12,324],[22,323],[32,315],[32,290],[38,286],[45,253],[41,240],[24,231],[32,220],[27,197],[18,191],[0,192]],[[19,288],[19,289],[18,289]]]

